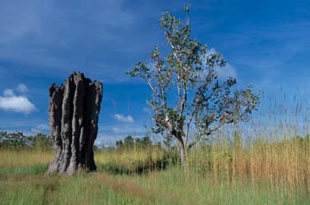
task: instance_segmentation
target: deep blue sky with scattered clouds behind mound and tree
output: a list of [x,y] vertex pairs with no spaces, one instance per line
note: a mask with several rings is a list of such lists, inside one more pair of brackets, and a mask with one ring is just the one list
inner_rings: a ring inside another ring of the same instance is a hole
[[48,133],[50,84],[80,71],[104,83],[97,144],[148,133],[150,91],[125,72],[164,46],[161,13],[188,4],[192,35],[229,62],[221,75],[274,98],[309,95],[308,0],[2,0],[0,130]]

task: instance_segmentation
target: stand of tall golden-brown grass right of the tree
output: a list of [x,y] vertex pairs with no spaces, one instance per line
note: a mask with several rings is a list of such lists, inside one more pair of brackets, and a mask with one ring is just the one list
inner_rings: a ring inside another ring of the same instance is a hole
[[310,143],[307,140],[281,142],[256,141],[248,148],[213,146],[209,152],[197,148],[190,155],[190,167],[212,175],[213,183],[236,185],[249,183],[252,188],[267,185],[270,192],[309,195]]

